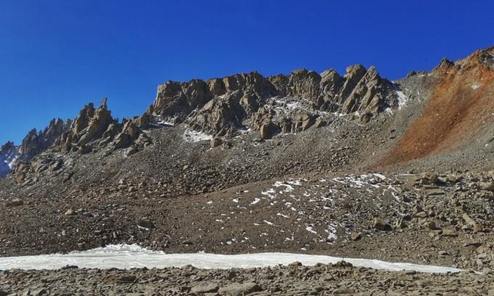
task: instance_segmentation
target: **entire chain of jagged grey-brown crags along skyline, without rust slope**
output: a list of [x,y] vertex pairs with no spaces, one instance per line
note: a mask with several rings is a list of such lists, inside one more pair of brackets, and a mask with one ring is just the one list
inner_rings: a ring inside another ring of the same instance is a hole
[[[357,114],[358,121],[366,123],[384,110],[399,107],[399,85],[381,78],[373,66],[368,70],[362,65],[349,66],[346,71],[344,77],[334,70],[318,74],[304,69],[267,78],[252,72],[207,81],[167,82],[158,87],[154,103],[142,116],[119,123],[111,116],[106,99],[98,108],[89,103],[73,121],[54,119],[45,130],[30,131],[20,147],[8,149],[12,143],[5,144],[0,157],[13,167],[49,148],[89,153],[95,145],[112,149],[136,141],[147,145],[142,129],[160,121],[185,123],[193,130],[226,138],[252,129],[266,139],[278,132],[306,130],[316,123],[317,111]],[[278,98],[291,98],[307,110],[277,116]]]

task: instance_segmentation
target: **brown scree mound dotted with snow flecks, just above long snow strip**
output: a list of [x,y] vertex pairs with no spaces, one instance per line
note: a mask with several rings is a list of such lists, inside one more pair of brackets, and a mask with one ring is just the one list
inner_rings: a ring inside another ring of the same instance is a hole
[[[180,165],[178,171],[194,182],[201,180],[200,174],[193,175],[201,171],[193,164]],[[211,167],[204,173],[221,177]],[[0,216],[1,239],[10,241],[0,252],[4,256],[56,253],[139,243],[167,253],[303,249],[313,254],[492,269],[494,204],[484,197],[489,192],[478,190],[490,175],[456,173],[459,179],[437,175],[440,180],[456,181],[445,182],[440,186],[444,195],[433,197],[423,189],[430,185],[407,182],[412,177],[420,180],[421,175],[363,174],[276,179],[179,198],[174,197],[178,192],[174,184],[187,183],[128,175],[109,186],[72,190],[57,199],[56,191],[26,197],[25,206],[8,208]],[[77,219],[64,214],[67,200],[78,205]],[[54,215],[54,208],[63,210]],[[20,211],[36,225],[16,219]],[[14,233],[5,232],[12,228],[27,235],[16,240]],[[31,247],[33,240],[36,249]]]

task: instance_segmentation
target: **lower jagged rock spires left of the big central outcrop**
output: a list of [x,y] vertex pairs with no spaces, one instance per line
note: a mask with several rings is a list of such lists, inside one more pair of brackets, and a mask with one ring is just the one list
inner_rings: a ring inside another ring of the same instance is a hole
[[[94,150],[106,149],[106,153],[111,153],[115,149],[132,146],[127,151],[130,155],[149,145],[150,139],[141,130],[141,127],[149,123],[147,113],[133,120],[124,119],[119,123],[118,119],[113,119],[111,116],[106,101],[106,98],[102,99],[102,105],[98,108],[95,108],[93,103],[87,104],[73,121],[62,123],[60,120],[54,120],[43,132],[30,132],[21,147],[23,161],[16,165],[17,182],[23,182],[28,173],[40,175],[47,169],[66,171],[71,168],[71,160],[64,160],[62,157],[54,158],[42,154],[32,159],[42,151],[66,155],[86,154]],[[23,151],[30,153],[23,154],[27,153]],[[70,173],[67,174],[67,177],[69,176]]]

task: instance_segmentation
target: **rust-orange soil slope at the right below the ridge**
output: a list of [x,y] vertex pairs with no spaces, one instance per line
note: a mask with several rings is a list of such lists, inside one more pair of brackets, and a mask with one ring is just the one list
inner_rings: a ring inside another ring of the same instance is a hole
[[442,78],[427,107],[381,165],[457,148],[493,123],[494,71],[478,62],[475,54],[462,68],[447,66],[437,71]]

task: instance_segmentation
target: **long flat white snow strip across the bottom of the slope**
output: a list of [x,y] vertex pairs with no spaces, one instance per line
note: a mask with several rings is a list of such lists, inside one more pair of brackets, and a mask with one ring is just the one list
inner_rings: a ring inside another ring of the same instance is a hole
[[[183,267],[192,264],[202,269],[231,269],[251,267],[272,267],[277,264],[290,264],[300,261],[304,265],[336,263],[343,258],[289,253],[260,253],[240,255],[217,255],[206,253],[165,254],[163,251],[151,251],[138,245],[108,245],[89,251],[74,251],[69,254],[40,256],[21,256],[0,258],[0,269],[60,269],[77,265],[80,268],[130,269]],[[389,271],[413,270],[425,273],[458,272],[460,269],[437,267],[432,265],[410,264],[403,262],[385,262],[381,260],[344,258],[357,267],[370,267]]]

